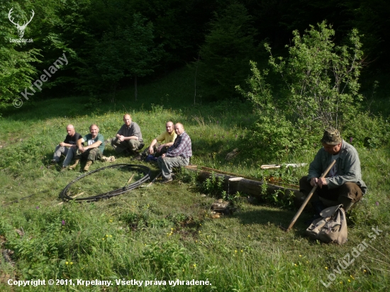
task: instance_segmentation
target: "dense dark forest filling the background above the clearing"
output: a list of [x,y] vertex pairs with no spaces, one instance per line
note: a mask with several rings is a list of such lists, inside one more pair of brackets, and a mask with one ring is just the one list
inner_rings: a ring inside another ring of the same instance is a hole
[[250,60],[267,64],[264,43],[274,57],[286,56],[294,30],[323,21],[335,45],[357,29],[362,74],[374,82],[389,74],[389,12],[384,0],[1,1],[0,105],[33,94],[115,99],[130,84],[129,99],[137,99],[137,82],[184,64],[197,74],[202,101],[229,99],[245,86]]

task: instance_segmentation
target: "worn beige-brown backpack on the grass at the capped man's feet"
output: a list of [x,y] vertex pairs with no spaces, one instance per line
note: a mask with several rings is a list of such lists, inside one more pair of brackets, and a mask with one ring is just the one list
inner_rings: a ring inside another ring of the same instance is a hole
[[326,208],[320,213],[321,218],[314,220],[306,229],[306,234],[313,240],[335,242],[339,245],[347,242],[347,220],[342,204]]

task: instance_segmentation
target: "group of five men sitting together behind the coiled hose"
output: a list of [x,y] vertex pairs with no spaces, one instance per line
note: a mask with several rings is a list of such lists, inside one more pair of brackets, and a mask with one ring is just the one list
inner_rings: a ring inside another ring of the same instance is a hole
[[[133,155],[135,159],[142,157],[140,150],[143,149],[143,136],[140,126],[133,122],[131,116],[123,116],[124,124],[116,133],[116,137],[111,139],[111,146],[116,153]],[[191,139],[185,132],[181,123],[174,124],[171,121],[165,125],[165,132],[155,137],[150,146],[145,149],[143,155],[153,155],[157,158],[158,166],[162,171],[162,183],[172,181],[172,168],[183,167],[189,164],[192,156]],[[79,164],[80,159],[86,158],[87,163],[83,171],[88,172],[91,164],[96,160],[113,162],[114,157],[104,155],[104,137],[99,133],[99,127],[92,124],[89,127],[89,134],[80,135],[74,130],[73,125],[67,125],[67,136],[64,142],[60,142],[55,148],[52,164],[60,162],[61,155],[65,156],[62,162],[62,169],[74,169]],[[74,164],[70,165],[72,159]]]

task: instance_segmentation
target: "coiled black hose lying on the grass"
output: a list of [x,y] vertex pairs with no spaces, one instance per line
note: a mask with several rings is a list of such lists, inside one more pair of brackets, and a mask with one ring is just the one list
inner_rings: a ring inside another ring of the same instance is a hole
[[[72,198],[67,195],[67,190],[74,184],[76,181],[79,181],[85,176],[89,176],[91,174],[94,174],[95,172],[100,172],[103,169],[107,168],[113,168],[113,167],[128,167],[129,169],[135,170],[137,172],[143,172],[144,176],[142,179],[139,179],[138,181],[135,181],[133,184],[129,184],[128,186],[123,186],[121,189],[116,189],[113,191],[108,191],[107,193],[101,193],[96,196],[90,196],[87,198]],[[127,191],[131,191],[133,189],[138,188],[141,184],[143,184],[145,181],[150,179],[150,168],[145,167],[143,165],[136,165],[136,164],[113,164],[113,165],[108,165],[107,167],[101,167],[99,169],[96,169],[92,172],[87,172],[87,174],[83,174],[82,176],[77,177],[77,179],[74,179],[71,181],[67,186],[65,186],[65,189],[63,189],[60,193],[60,198],[62,198],[63,201],[87,201],[87,202],[94,202],[98,201],[104,198],[111,198],[113,196],[119,196],[122,193],[126,193]]]

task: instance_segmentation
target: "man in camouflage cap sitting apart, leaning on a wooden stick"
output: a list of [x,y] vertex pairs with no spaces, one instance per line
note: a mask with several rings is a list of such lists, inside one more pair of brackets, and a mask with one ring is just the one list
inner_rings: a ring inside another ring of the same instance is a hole
[[[325,130],[321,142],[323,148],[311,162],[308,176],[303,176],[299,181],[299,189],[306,196],[313,186],[319,186],[311,197],[311,205],[316,212],[313,220],[320,218],[321,210],[325,209],[320,197],[333,201],[330,202],[333,206],[342,204],[347,212],[367,191],[355,147],[342,140],[340,132],[333,128]],[[320,179],[333,160],[336,160],[333,168],[325,178]]]

